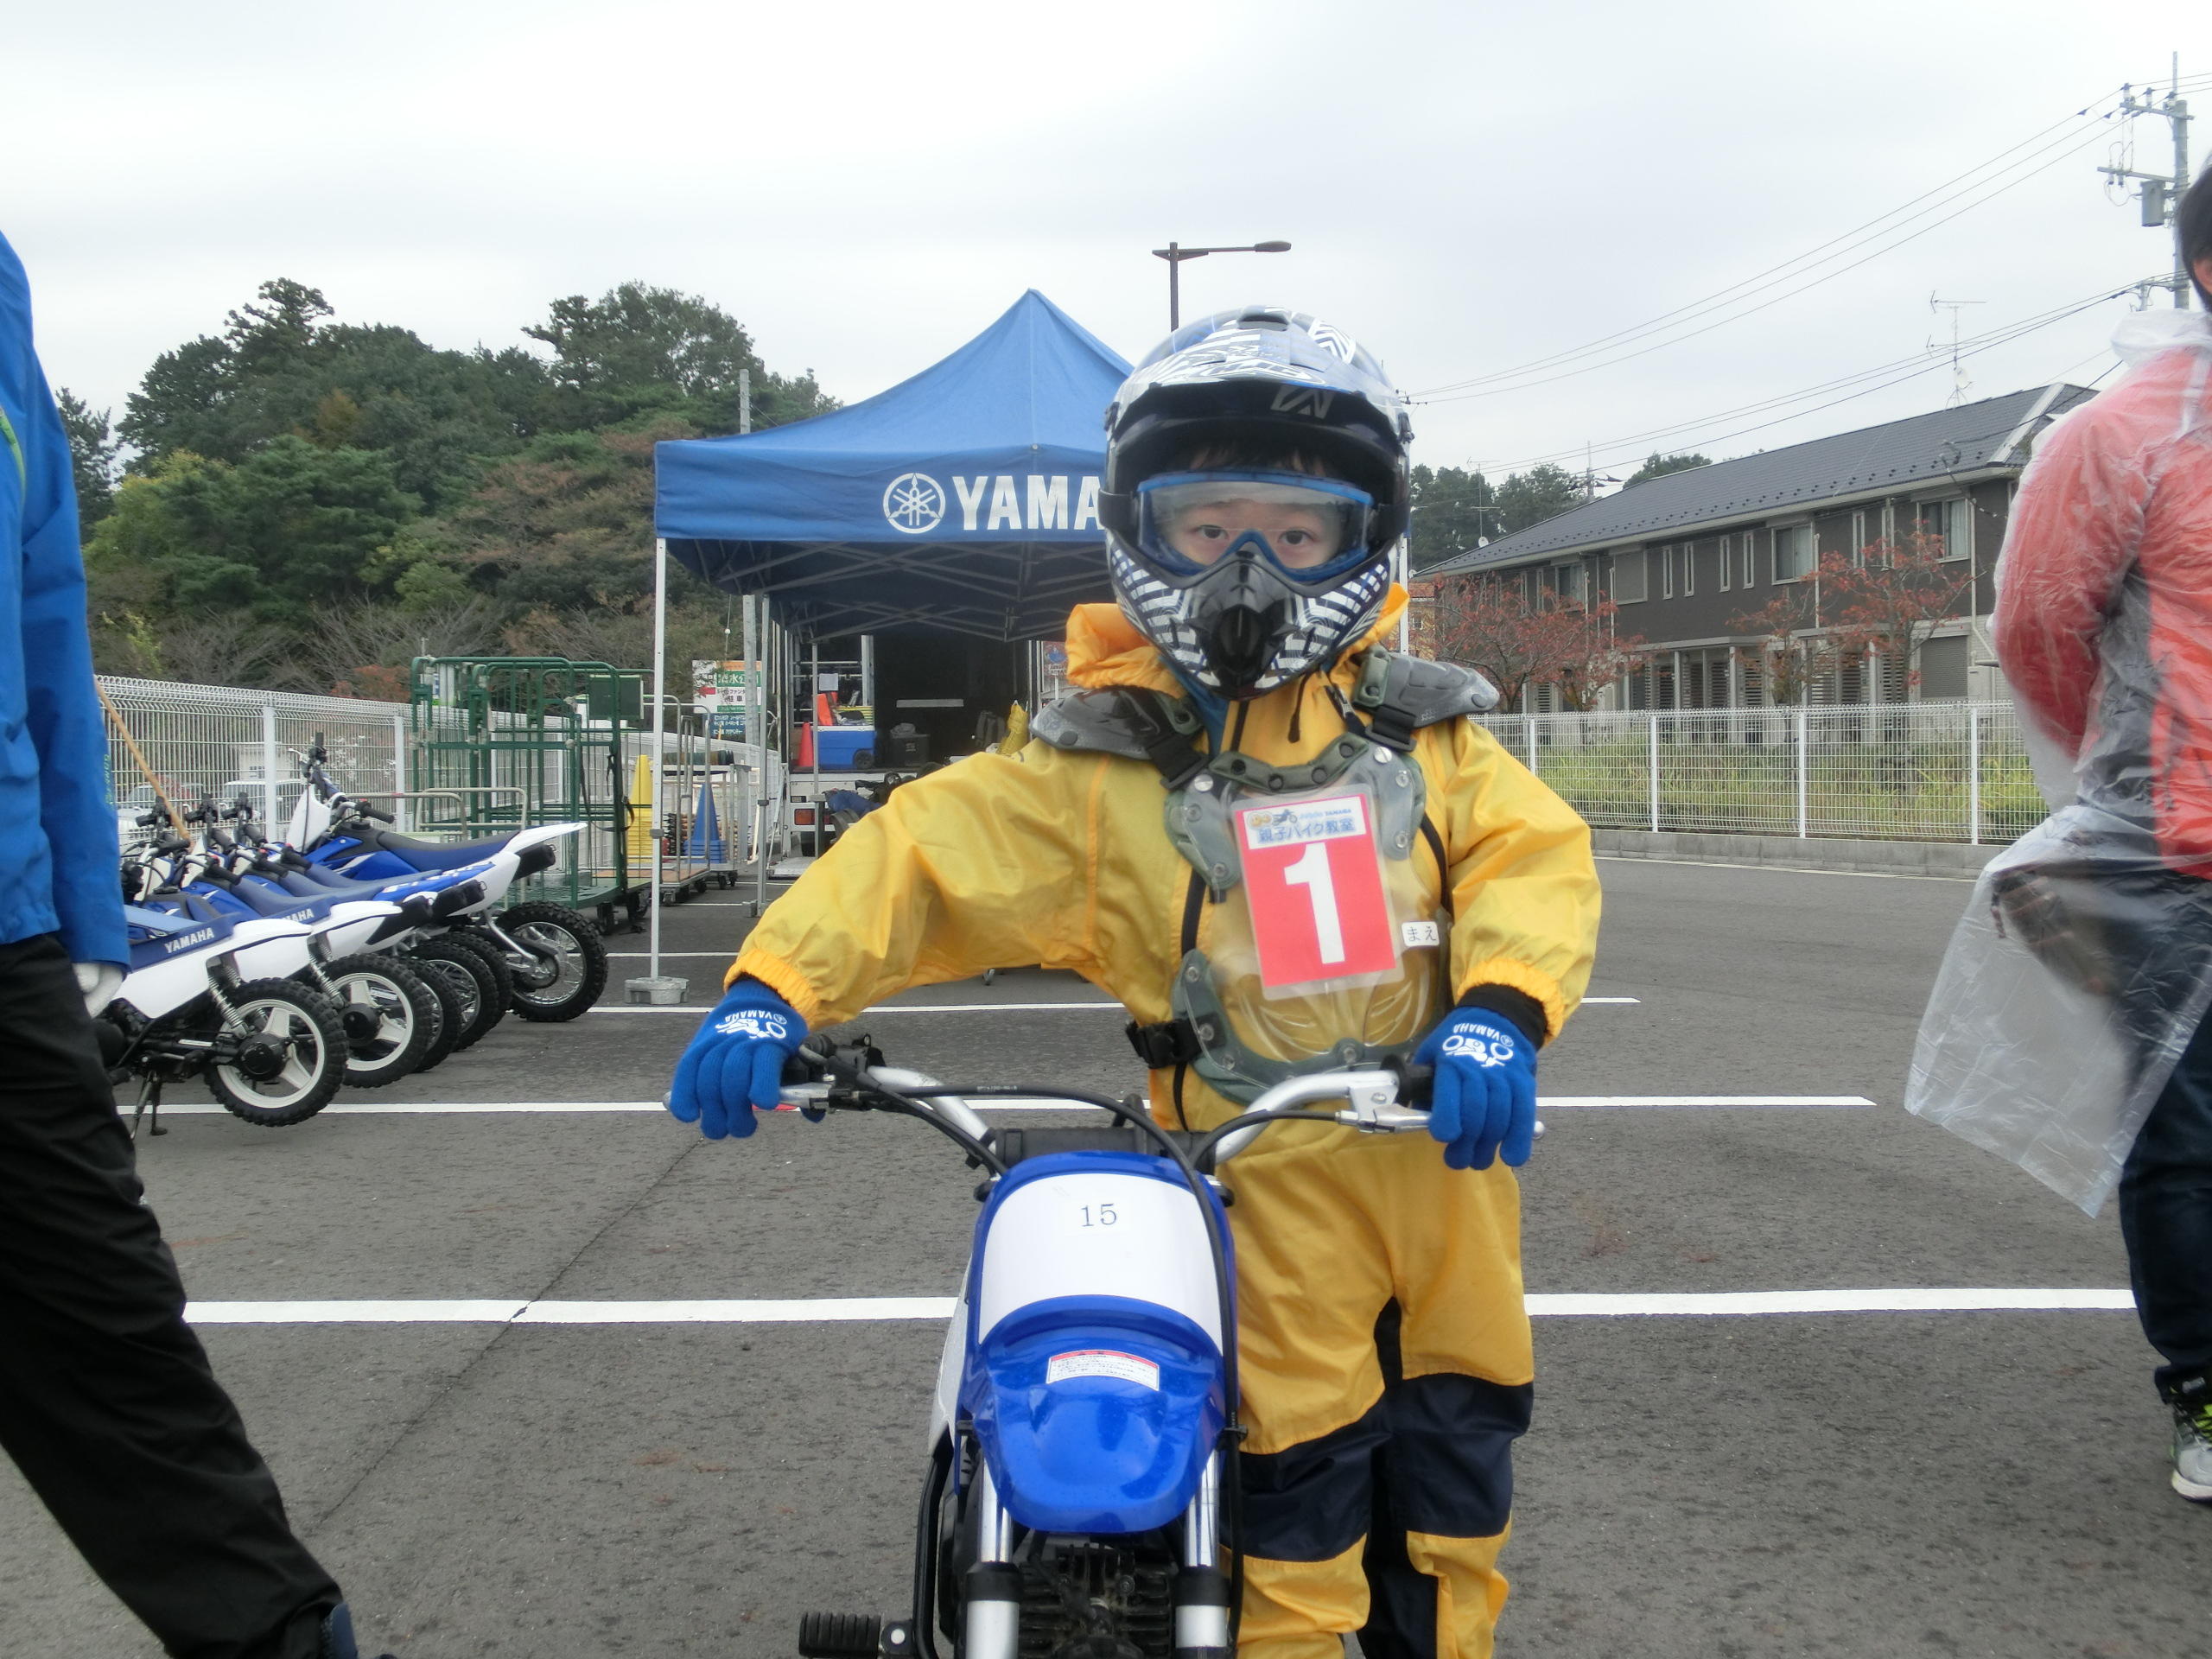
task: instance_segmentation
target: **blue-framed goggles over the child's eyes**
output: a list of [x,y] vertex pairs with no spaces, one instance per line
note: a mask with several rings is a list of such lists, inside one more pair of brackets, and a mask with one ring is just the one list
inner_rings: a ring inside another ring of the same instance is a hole
[[1367,564],[1374,495],[1305,473],[1161,473],[1137,484],[1137,544],[1164,571],[1203,575],[1248,549],[1292,582]]

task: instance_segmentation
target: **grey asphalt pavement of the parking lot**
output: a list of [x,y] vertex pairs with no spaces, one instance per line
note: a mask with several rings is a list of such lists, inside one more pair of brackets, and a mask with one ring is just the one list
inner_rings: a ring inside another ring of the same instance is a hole
[[[2194,1652],[2212,1511],[2166,1486],[2132,1314],[1548,1301],[2126,1285],[2110,1214],[1898,1106],[1966,883],[1601,872],[1593,991],[1632,1000],[1544,1060],[1537,1413],[1498,1652]],[[699,1004],[734,900],[666,911]],[[619,1002],[644,940],[611,947]],[[951,1294],[973,1175],[898,1119],[703,1144],[653,1108],[695,1018],[509,1018],[299,1128],[177,1113],[142,1144],[195,1305],[270,1321],[201,1334],[372,1650],[787,1659],[805,1610],[898,1606],[940,1327],[838,1298]],[[1066,975],[931,987],[865,1024],[940,1075],[1137,1082],[1121,1018]],[[1690,1104],[1725,1097],[1770,1104]],[[684,1307],[732,1298],[816,1307]],[[409,1318],[434,1301],[471,1307]],[[157,1652],[7,1464],[0,1650]]]

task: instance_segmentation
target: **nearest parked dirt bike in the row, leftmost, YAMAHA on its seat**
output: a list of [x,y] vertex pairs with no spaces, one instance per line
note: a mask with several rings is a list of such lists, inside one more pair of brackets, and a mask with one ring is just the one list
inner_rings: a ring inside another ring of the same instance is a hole
[[272,916],[181,916],[124,907],[131,967],[100,1013],[108,1075],[139,1082],[139,1119],[161,1135],[161,1088],[206,1077],[248,1124],[314,1117],[345,1079],[336,1004],[301,984],[314,925]]

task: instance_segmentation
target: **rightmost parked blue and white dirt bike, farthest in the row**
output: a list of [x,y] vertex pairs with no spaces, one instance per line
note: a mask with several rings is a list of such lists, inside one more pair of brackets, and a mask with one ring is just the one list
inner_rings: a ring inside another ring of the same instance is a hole
[[484,902],[456,916],[451,931],[484,958],[498,1006],[524,1020],[557,1022],[575,1020],[599,1000],[606,991],[606,942],[588,918],[535,898],[493,914],[515,880],[553,867],[560,856],[555,841],[584,825],[546,823],[465,843],[418,841],[398,834],[389,814],[338,790],[323,770],[325,759],[321,748],[301,757],[307,787],[285,832],[314,869],[363,880],[489,863],[493,878],[484,883]]

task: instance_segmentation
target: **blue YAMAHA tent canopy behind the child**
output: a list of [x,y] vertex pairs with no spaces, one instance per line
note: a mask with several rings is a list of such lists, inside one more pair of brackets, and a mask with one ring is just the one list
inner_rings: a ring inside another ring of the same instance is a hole
[[1029,290],[942,363],[834,414],[655,449],[657,533],[814,637],[1057,635],[1106,597],[1104,414],[1128,363]]

